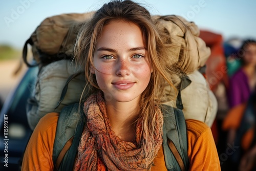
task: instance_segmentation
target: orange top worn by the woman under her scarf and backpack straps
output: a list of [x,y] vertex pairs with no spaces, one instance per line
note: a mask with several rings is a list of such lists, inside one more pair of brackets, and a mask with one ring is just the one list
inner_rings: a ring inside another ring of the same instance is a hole
[[[40,119],[24,154],[22,170],[53,170],[52,154],[58,115],[49,113]],[[221,170],[210,128],[205,123],[193,119],[186,120],[186,126],[189,170]],[[162,147],[151,170],[167,170]]]

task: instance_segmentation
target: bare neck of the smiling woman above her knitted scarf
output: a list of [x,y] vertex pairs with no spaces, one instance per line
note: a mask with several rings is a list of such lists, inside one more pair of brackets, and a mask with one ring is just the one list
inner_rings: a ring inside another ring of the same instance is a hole
[[110,118],[112,130],[123,141],[134,141],[136,119],[139,116],[139,102],[106,103],[106,114]]

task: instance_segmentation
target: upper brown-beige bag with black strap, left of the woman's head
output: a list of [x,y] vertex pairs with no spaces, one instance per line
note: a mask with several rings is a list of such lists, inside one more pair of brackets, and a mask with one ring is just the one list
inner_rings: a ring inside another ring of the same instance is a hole
[[61,14],[43,20],[25,43],[24,62],[29,67],[33,66],[27,61],[28,44],[32,46],[34,59],[42,65],[61,59],[71,59],[80,24],[93,14],[94,12]]

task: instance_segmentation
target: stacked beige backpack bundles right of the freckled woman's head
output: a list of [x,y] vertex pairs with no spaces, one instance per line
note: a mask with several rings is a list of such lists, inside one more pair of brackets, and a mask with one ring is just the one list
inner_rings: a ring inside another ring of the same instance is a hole
[[[170,61],[176,64],[187,74],[191,83],[180,91],[182,111],[185,119],[196,119],[211,126],[217,114],[217,100],[209,89],[208,83],[198,71],[205,65],[210,55],[210,48],[199,37],[200,30],[193,22],[188,22],[181,16],[153,16],[158,28],[169,35]],[[166,41],[166,40],[165,40]],[[167,42],[168,42],[167,41]],[[175,86],[181,89],[179,75],[173,74]],[[167,102],[164,104],[179,108],[177,96],[170,91],[170,86],[165,87]],[[179,95],[179,94],[178,94]]]

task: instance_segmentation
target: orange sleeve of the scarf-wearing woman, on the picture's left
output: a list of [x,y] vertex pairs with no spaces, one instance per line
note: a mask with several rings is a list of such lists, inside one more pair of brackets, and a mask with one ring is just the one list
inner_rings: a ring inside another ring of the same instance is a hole
[[53,170],[53,144],[58,122],[58,113],[42,117],[27,145],[22,170]]

